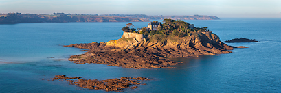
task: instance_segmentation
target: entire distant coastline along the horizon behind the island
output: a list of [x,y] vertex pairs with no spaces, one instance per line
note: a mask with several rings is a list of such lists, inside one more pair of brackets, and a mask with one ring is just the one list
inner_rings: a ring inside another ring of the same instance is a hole
[[170,18],[175,20],[218,20],[216,16],[148,16],[145,14],[0,14],[0,24],[69,23],[69,22],[149,22]]

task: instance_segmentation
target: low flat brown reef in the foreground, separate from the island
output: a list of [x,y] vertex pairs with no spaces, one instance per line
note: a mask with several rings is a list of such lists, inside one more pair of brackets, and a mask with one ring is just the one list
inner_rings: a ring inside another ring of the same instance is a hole
[[[56,75],[53,80],[69,81],[69,83],[77,85],[78,87],[105,90],[105,91],[116,91],[121,92],[124,88],[137,88],[133,85],[141,85],[143,81],[150,80],[146,77],[121,77],[120,79],[80,79],[82,77],[66,77],[65,75]],[[78,80],[77,80],[78,79]],[[142,85],[146,85],[145,83]]]

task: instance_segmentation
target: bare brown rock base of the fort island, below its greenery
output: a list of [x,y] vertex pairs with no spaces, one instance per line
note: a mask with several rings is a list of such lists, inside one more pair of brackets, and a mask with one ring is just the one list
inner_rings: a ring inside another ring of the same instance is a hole
[[196,32],[191,36],[179,38],[155,34],[136,42],[133,38],[120,38],[109,42],[71,44],[65,47],[89,49],[82,55],[72,55],[69,60],[76,64],[107,64],[124,68],[171,68],[181,62],[168,58],[198,57],[232,53],[232,47],[224,44],[213,33]]

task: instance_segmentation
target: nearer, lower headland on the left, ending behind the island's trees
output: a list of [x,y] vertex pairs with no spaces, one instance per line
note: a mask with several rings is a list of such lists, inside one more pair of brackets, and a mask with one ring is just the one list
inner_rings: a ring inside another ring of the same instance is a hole
[[69,22],[143,22],[139,18],[122,16],[95,16],[95,15],[69,15],[69,14],[1,14],[0,24],[12,23],[69,23]]

